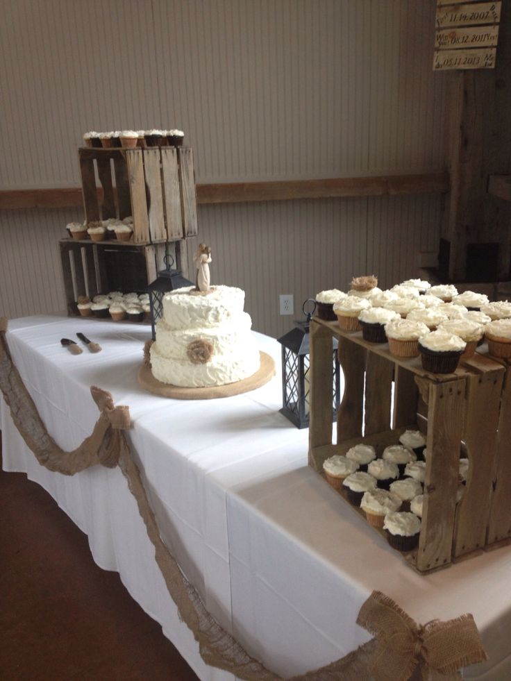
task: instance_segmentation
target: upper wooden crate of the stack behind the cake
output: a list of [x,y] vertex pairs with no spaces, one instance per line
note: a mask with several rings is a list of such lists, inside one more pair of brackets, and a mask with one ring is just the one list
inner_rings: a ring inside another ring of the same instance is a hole
[[78,157],[87,222],[132,215],[135,244],[196,235],[193,152],[189,147],[84,147],[78,149]]

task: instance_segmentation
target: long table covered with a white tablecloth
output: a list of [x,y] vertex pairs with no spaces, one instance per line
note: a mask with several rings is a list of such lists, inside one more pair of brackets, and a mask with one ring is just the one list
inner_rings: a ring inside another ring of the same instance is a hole
[[[76,331],[99,354],[72,355]],[[206,401],[151,395],[137,384],[144,325],[60,315],[10,321],[12,360],[50,434],[71,450],[90,435],[97,385],[130,407],[128,431],[162,538],[221,625],[269,669],[288,677],[368,641],[355,624],[373,589],[413,619],[474,614],[489,661],[465,678],[511,678],[511,546],[422,576],[410,569],[307,465],[308,430],[281,414],[280,346],[256,334],[277,375],[253,392]],[[72,477],[37,463],[1,400],[3,467],[38,482],[86,532],[94,560],[119,572],[203,680],[233,679],[199,655],[178,619],[153,546],[118,468]],[[79,585],[76,585],[79,588]]]

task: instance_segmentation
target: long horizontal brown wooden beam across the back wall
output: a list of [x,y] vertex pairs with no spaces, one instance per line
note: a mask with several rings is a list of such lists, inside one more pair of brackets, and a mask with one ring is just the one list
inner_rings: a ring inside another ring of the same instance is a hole
[[[330,199],[343,196],[383,196],[385,194],[442,194],[448,191],[449,174],[447,173],[217,183],[196,186],[197,203]],[[76,208],[78,206],[83,206],[80,187],[0,191],[0,210]]]

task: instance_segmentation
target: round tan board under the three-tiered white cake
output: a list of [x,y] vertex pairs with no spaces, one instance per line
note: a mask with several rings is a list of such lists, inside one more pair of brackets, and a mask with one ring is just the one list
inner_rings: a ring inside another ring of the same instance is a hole
[[258,371],[249,376],[249,378],[237,380],[235,383],[227,383],[226,385],[211,385],[203,388],[183,388],[178,385],[169,385],[169,383],[162,383],[154,378],[151,367],[147,367],[146,364],[142,364],[142,367],[138,370],[137,379],[144,390],[148,390],[161,397],[171,397],[175,400],[212,400],[217,397],[231,397],[260,388],[270,378],[275,376],[275,362],[273,358],[266,353],[260,353],[260,355],[261,364]]

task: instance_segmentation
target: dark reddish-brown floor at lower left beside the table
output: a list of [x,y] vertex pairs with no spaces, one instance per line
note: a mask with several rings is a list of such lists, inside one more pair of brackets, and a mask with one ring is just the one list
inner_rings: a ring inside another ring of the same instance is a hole
[[196,679],[53,498],[0,465],[0,680]]

